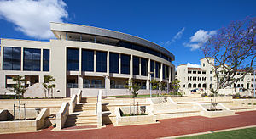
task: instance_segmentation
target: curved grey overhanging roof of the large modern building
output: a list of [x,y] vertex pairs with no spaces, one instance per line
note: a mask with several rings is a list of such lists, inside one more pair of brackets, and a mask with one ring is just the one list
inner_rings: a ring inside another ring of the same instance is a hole
[[160,47],[154,42],[149,42],[143,38],[137,36],[131,36],[129,34],[121,33],[118,31],[111,31],[107,29],[97,28],[93,26],[87,25],[75,25],[75,24],[67,24],[67,23],[50,23],[50,29],[55,33],[55,31],[64,31],[64,32],[77,32],[84,33],[96,36],[106,36],[110,38],[115,38],[119,40],[123,40],[126,42],[134,42],[145,47],[153,48],[154,50],[160,51],[161,53],[165,53],[167,56],[172,58],[172,61],[175,60],[175,57],[172,53],[170,53],[166,48]]

